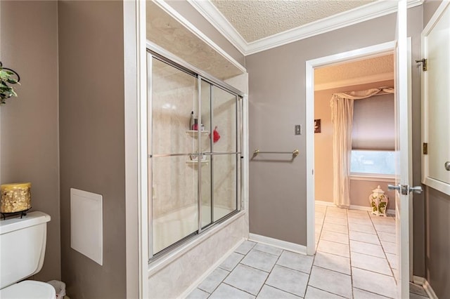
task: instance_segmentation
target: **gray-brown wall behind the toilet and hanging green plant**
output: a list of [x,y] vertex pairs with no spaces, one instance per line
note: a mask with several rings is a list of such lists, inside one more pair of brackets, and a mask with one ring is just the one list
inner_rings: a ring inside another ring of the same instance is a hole
[[33,279],[60,279],[58,2],[0,1],[0,11],[0,60],[21,78],[0,107],[0,182],[32,183],[33,210],[51,216]]

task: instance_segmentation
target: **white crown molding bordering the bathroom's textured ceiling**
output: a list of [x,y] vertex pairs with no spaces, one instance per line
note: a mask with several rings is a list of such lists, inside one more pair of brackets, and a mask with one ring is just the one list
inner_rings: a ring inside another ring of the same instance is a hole
[[[222,35],[235,46],[243,55],[250,55],[271,48],[283,46],[300,41],[308,37],[323,34],[326,32],[354,25],[359,22],[378,18],[397,11],[397,1],[378,0],[371,4],[366,4],[350,11],[345,11],[328,18],[311,22],[307,25],[286,30],[279,34],[267,36],[264,39],[258,39],[248,43],[234,29],[222,13],[211,3],[210,0],[187,0],[203,17],[211,23]],[[408,0],[408,8],[423,4],[423,0]]]

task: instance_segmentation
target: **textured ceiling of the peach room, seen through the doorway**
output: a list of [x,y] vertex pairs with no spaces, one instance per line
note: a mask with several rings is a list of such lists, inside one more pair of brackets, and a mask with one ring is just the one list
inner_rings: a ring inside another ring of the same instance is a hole
[[345,62],[330,67],[314,69],[314,84],[358,80],[380,74],[394,73],[394,55],[383,55],[365,60]]

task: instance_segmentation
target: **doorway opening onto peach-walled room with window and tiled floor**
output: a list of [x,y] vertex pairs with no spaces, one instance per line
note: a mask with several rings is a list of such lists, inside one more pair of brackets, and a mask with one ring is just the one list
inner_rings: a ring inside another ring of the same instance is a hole
[[[314,222],[316,251],[319,250],[316,254],[331,258],[336,254],[344,258],[348,255],[347,267],[337,267],[337,271],[346,272],[355,267],[397,277],[395,193],[387,191],[388,184],[395,184],[393,88],[393,53],[314,69],[314,176],[317,182]],[[366,98],[368,91],[375,93],[377,89],[382,91]],[[347,175],[349,206],[346,207],[342,206],[342,201],[333,202],[333,168],[340,165],[333,162],[335,157],[331,151],[335,128],[330,105],[333,95],[345,94],[360,95],[351,100],[353,117],[349,125],[352,129],[348,131],[352,133],[352,154]],[[378,187],[385,192],[383,198],[389,199],[386,207],[382,204],[377,208],[371,205],[375,201],[369,201]]]

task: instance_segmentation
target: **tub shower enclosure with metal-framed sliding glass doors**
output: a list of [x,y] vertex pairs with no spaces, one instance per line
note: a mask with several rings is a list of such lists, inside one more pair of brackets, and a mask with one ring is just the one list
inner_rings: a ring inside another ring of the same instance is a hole
[[150,261],[240,211],[242,96],[148,50]]

